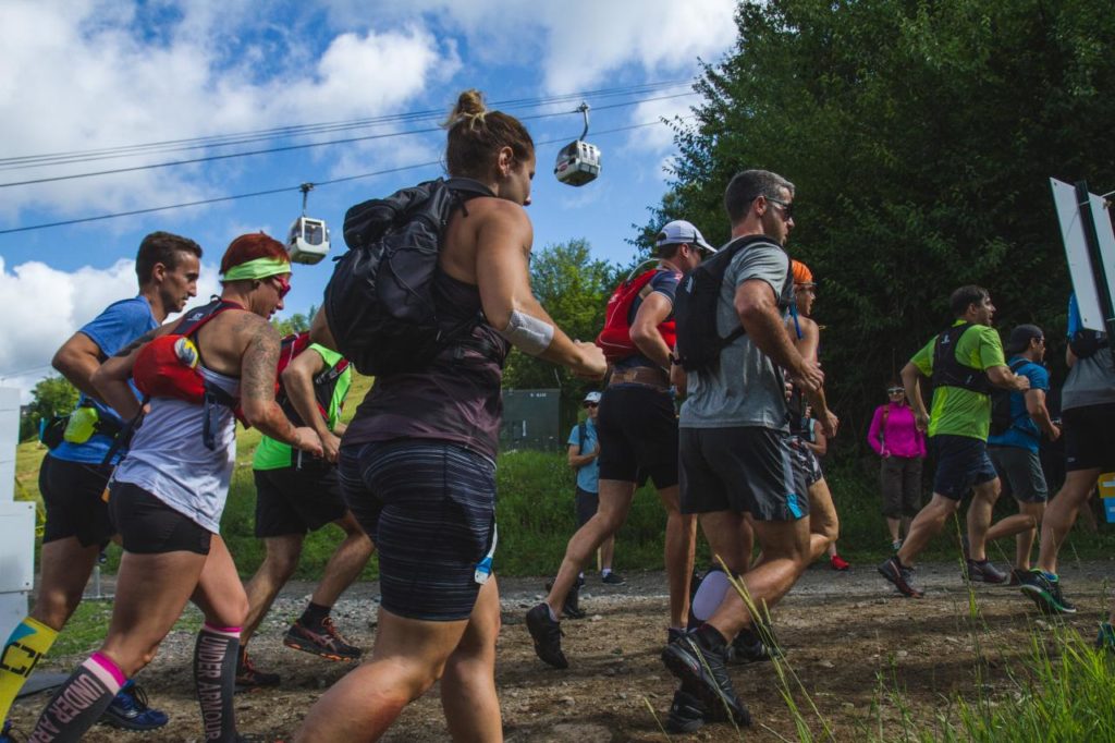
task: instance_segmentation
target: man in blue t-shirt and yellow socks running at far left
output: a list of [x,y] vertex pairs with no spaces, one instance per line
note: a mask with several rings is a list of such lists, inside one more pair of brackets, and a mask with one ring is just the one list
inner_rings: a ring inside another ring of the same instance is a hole
[[[94,389],[93,373],[197,295],[201,257],[202,248],[193,240],[168,232],[148,234],[136,254],[139,293],[105,308],[62,344],[51,360],[81,395],[65,440],[47,453],[39,470],[39,490],[47,509],[39,592],[31,614],[12,630],[0,656],[0,720],[7,717],[36,664],[77,609],[97,558],[114,534],[108,505],[101,498],[112,470],[100,465],[123,422]],[[112,464],[118,461],[119,456]],[[128,682],[101,720],[116,727],[145,731],[165,725],[167,716],[149,708],[146,696]],[[7,740],[7,728],[6,724],[0,741]]]

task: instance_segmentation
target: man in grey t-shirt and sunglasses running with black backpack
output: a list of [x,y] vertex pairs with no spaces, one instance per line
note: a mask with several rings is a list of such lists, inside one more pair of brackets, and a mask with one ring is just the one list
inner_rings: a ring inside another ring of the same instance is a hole
[[[736,573],[746,565],[739,534],[749,514],[763,560],[741,580],[759,611],[793,587],[809,556],[809,501],[803,472],[793,464],[780,369],[807,393],[824,379],[785,325],[793,278],[782,245],[794,226],[793,200],[794,185],[768,171],[745,171],[728,184],[733,241],[712,260],[730,262],[709,320],[721,339],[731,334],[735,339],[710,366],[688,374],[680,418],[681,510],[699,514],[712,552]],[[830,434],[835,426],[831,417]],[[673,634],[662,662],[681,681],[678,696],[696,699],[711,720],[730,716],[747,724],[749,714],[726,668],[728,645],[760,619],[728,590],[704,624]]]

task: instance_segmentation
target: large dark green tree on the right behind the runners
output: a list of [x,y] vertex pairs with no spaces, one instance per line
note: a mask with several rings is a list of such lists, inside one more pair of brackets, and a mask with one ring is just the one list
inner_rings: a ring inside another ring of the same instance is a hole
[[1000,330],[1064,336],[1048,178],[1115,187],[1109,3],[769,0],[741,3],[736,22],[735,49],[697,83],[695,123],[677,127],[655,224],[683,218],[723,241],[734,173],[796,184],[787,249],[820,280],[841,438],[862,438],[958,286],[991,290]]

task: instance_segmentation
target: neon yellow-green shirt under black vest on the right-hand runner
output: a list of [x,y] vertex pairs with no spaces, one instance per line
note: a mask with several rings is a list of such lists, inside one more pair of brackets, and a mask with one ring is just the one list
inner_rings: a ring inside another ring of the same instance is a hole
[[[961,325],[957,320],[953,327]],[[910,361],[927,377],[933,375],[933,337]],[[973,325],[957,340],[957,360],[975,369],[990,369],[1006,366],[1002,341],[999,332],[986,325]],[[987,441],[991,427],[991,397],[961,387],[938,386],[933,388],[933,402],[929,411],[929,435],[949,434]]]

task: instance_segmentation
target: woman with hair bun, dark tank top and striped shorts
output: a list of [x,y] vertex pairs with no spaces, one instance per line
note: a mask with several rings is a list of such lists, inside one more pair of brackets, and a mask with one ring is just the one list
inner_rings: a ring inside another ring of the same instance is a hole
[[[512,116],[460,94],[447,122],[450,176],[492,196],[454,211],[434,279],[439,321],[483,310],[469,337],[418,372],[381,375],[357,409],[339,465],[349,509],[379,550],[382,604],[371,657],[310,710],[297,741],[372,741],[442,679],[454,740],[503,739],[495,692],[500,380],[510,346],[600,378],[604,357],[569,339],[531,292],[534,143]],[[330,345],[317,318],[314,339]],[[312,331],[312,330],[311,330]]]

